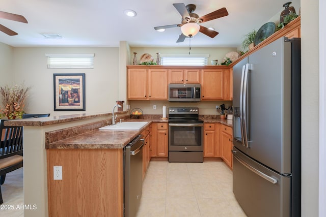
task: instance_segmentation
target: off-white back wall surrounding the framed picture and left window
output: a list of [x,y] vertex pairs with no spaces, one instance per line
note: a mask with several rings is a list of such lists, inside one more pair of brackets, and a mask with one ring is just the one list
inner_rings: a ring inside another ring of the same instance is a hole
[[[26,113],[52,115],[111,112],[119,99],[119,48],[15,47],[14,81],[32,86]],[[94,69],[47,69],[45,53],[95,53]],[[10,53],[9,53],[10,54]],[[53,74],[85,73],[86,111],[53,110]]]

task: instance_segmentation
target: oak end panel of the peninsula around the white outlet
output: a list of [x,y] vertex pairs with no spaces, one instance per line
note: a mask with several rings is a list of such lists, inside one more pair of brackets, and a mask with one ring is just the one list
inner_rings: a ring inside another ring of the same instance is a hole
[[[123,216],[123,149],[47,149],[48,215]],[[62,166],[62,180],[53,180]]]

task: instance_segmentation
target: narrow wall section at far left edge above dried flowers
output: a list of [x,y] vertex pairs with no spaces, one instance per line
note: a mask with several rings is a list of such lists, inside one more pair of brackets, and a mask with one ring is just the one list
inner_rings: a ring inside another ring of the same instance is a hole
[[14,79],[14,49],[0,42],[0,86],[13,84]]

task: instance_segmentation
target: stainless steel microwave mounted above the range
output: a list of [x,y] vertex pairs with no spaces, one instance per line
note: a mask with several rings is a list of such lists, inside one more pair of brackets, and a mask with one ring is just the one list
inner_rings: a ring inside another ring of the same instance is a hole
[[170,102],[199,102],[200,84],[169,84]]

